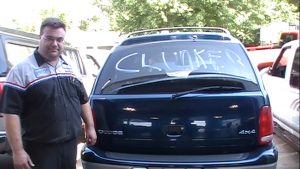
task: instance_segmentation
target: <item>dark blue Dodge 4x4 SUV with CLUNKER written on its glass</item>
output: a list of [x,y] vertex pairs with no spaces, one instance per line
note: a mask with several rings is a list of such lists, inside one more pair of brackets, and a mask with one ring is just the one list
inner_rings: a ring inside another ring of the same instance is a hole
[[90,95],[98,135],[84,169],[275,169],[269,98],[246,49],[228,30],[131,33]]

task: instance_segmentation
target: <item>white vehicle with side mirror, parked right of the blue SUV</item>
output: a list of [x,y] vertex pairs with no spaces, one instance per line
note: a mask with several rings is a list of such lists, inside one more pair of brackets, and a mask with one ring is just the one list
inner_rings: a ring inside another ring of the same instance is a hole
[[299,40],[291,41],[270,67],[261,71],[263,83],[270,96],[275,132],[299,149]]

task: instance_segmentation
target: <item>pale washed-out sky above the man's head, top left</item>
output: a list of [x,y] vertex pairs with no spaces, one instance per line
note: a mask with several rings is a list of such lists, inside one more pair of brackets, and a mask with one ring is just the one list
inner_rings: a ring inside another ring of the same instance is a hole
[[[55,9],[57,13],[65,13],[67,19],[77,22],[99,13],[92,2],[93,0],[5,0],[0,6],[0,26],[16,28],[34,25],[39,28],[41,11],[51,9]],[[106,27],[106,23],[103,26]]]

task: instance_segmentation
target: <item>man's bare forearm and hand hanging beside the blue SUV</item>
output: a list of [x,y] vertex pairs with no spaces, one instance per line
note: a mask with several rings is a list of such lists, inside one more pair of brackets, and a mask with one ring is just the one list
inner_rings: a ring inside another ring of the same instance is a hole
[[92,110],[89,102],[81,105],[82,119],[85,123],[85,134],[88,145],[94,145],[97,141],[97,135],[94,127]]

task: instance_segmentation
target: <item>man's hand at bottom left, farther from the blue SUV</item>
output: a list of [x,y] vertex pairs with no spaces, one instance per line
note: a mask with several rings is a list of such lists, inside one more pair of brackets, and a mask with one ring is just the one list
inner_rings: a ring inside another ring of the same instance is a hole
[[24,149],[13,152],[13,162],[15,169],[31,169],[31,167],[34,167],[33,162]]

